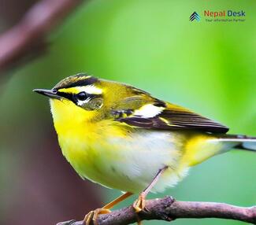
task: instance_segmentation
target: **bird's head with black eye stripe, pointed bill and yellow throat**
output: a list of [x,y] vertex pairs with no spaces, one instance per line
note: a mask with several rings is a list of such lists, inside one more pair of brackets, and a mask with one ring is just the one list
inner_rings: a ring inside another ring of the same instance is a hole
[[107,85],[100,79],[80,73],[62,79],[51,90],[34,91],[50,98],[54,125],[76,126],[104,116]]

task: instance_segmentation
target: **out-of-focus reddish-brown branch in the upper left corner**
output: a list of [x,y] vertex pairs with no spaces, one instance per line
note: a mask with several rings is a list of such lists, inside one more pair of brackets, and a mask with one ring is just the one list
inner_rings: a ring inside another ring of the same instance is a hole
[[0,71],[29,53],[43,50],[46,34],[80,2],[82,0],[42,0],[32,6],[16,26],[0,36]]

